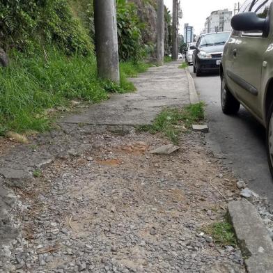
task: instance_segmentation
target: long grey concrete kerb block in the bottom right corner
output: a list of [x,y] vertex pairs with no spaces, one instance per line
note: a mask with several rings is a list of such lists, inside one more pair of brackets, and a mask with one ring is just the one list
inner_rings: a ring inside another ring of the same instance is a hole
[[258,211],[249,201],[232,201],[228,215],[249,273],[273,272],[273,242]]

